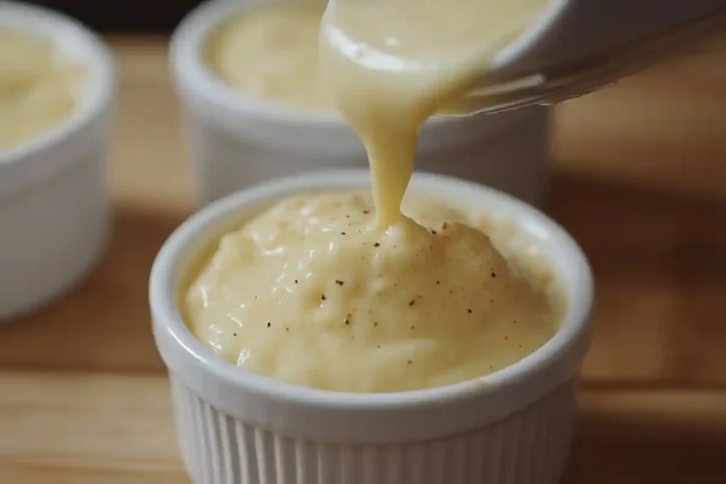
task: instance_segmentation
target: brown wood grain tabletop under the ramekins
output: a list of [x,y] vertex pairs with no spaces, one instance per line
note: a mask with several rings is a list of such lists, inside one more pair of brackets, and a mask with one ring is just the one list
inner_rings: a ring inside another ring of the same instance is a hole
[[[147,276],[192,208],[163,38],[110,39],[113,242],[0,329],[0,483],[181,484]],[[726,482],[726,39],[558,107],[547,210],[597,279],[568,484]]]

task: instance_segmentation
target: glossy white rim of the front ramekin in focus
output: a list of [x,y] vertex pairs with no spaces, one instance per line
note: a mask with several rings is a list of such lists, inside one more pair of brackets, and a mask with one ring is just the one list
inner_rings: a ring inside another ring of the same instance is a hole
[[[369,173],[364,169],[338,169],[289,176],[231,194],[188,218],[168,237],[152,266],[150,305],[154,315],[155,332],[168,332],[174,344],[179,345],[189,359],[201,364],[205,372],[213,374],[226,385],[236,385],[247,392],[256,393],[261,398],[274,401],[349,410],[401,409],[409,406],[441,404],[491,393],[502,387],[517,385],[538,372],[544,372],[548,363],[550,366],[554,365],[558,358],[564,358],[568,350],[574,348],[582,338],[587,337],[588,319],[594,299],[592,271],[582,249],[565,229],[536,208],[499,190],[432,173],[415,173],[412,183],[440,184],[470,192],[477,190],[491,197],[497,197],[513,205],[523,219],[537,221],[541,226],[547,227],[567,245],[570,259],[576,263],[581,284],[577,285],[573,294],[568,294],[568,311],[558,332],[534,353],[498,372],[454,385],[396,393],[353,393],[300,387],[246,372],[219,358],[192,335],[176,308],[174,294],[174,266],[189,241],[213,226],[219,219],[244,205],[309,189],[365,186],[369,180]],[[163,348],[159,349],[164,353]]]

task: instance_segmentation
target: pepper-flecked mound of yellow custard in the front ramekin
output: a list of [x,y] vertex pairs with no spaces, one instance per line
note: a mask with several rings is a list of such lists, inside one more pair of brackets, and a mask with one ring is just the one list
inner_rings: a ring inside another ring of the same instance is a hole
[[366,192],[280,202],[221,239],[184,300],[189,327],[251,372],[354,392],[469,380],[554,334],[553,284],[519,275],[471,228],[484,221],[407,202],[415,221],[386,231]]

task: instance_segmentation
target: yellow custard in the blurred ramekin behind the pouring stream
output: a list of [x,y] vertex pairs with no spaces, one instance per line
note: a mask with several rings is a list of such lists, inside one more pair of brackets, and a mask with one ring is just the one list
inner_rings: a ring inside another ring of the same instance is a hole
[[335,110],[318,67],[324,1],[283,1],[251,9],[206,44],[213,73],[241,93],[288,107]]

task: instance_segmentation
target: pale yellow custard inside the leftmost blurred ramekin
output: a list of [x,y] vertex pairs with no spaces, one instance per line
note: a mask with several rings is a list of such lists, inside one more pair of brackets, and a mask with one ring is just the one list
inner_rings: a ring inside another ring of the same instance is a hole
[[0,28],[0,150],[61,123],[77,87],[78,69],[50,41]]

